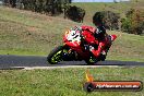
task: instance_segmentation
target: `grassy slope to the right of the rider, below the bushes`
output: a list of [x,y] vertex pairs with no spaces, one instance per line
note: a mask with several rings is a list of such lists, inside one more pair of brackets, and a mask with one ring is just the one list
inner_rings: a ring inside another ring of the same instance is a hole
[[107,59],[123,61],[144,61],[144,36],[116,33],[118,38],[113,41]]

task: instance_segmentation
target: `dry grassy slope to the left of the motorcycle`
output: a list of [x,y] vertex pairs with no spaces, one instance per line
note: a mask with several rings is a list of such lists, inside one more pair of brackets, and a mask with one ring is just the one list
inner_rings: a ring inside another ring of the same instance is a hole
[[59,17],[1,7],[0,44],[2,45],[0,50],[29,50],[48,53],[52,47],[62,43],[62,32],[72,24],[75,25],[73,22]]

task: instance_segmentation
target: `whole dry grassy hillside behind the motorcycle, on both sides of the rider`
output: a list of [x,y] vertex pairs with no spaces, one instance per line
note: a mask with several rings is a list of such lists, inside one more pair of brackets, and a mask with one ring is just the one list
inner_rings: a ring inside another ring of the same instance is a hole
[[[93,24],[0,7],[0,53],[47,56],[62,45],[63,33],[74,25]],[[144,61],[144,36],[108,33],[118,35],[108,60]]]

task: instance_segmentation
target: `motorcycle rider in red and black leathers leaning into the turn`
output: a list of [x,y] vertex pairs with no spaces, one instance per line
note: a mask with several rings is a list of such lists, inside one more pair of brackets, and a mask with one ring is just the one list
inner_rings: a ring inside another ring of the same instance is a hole
[[[95,14],[93,16],[93,24],[96,27],[81,26],[83,31],[82,34],[85,36],[86,43],[91,45],[89,50],[95,56],[95,58],[104,61],[111,45],[106,48],[106,46],[109,44],[109,38],[108,34],[106,33],[106,28],[103,25],[103,17]],[[88,36],[86,36],[87,32],[91,33],[91,35],[88,34]]]

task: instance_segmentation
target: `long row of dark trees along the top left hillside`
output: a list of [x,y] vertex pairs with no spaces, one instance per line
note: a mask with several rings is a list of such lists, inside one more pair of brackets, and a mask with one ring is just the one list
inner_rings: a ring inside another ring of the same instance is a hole
[[70,2],[71,0],[4,0],[4,5],[56,15],[62,13],[62,5]]

